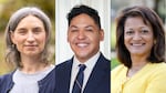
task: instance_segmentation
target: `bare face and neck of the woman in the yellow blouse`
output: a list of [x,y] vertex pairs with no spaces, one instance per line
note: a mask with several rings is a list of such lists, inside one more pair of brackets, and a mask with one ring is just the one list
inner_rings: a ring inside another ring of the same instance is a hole
[[132,76],[147,63],[155,40],[151,24],[145,24],[141,17],[127,18],[124,27],[124,43],[132,59],[128,75]]

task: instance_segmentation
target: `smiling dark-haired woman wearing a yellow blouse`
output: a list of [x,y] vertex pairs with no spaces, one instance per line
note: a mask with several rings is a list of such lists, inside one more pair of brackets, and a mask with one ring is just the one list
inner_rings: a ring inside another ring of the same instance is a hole
[[112,71],[111,93],[166,93],[165,31],[159,17],[146,7],[131,7],[116,22],[122,64]]

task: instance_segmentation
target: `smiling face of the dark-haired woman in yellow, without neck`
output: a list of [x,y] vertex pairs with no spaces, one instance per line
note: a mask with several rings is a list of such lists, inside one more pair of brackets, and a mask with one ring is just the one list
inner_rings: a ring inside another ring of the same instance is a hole
[[124,25],[124,43],[131,55],[148,56],[154,44],[151,24],[141,17],[127,18]]

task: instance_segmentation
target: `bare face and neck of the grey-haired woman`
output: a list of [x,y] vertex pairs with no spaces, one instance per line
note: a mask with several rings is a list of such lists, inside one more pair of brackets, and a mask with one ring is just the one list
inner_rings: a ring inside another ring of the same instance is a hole
[[20,52],[22,71],[34,73],[45,66],[40,62],[40,53],[46,40],[44,25],[40,19],[33,16],[23,18],[17,29],[11,32],[11,40]]

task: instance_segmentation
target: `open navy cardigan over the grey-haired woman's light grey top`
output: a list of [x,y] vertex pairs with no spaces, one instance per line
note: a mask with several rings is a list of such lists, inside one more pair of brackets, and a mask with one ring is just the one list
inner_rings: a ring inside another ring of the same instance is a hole
[[[55,93],[55,69],[53,69],[43,80],[39,81],[39,93]],[[0,93],[9,93],[14,85],[12,81],[14,72],[0,76]]]

